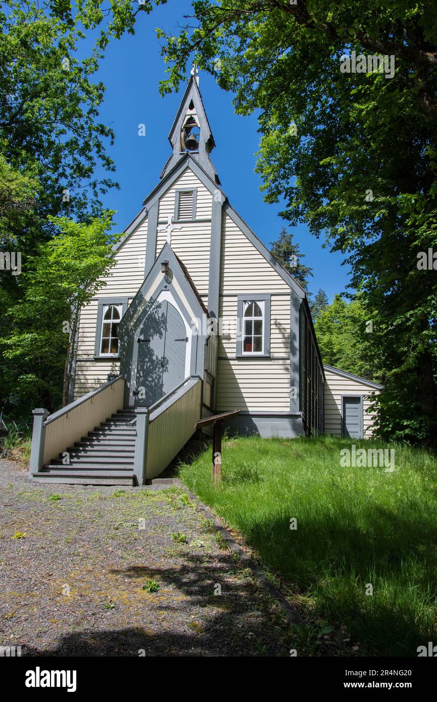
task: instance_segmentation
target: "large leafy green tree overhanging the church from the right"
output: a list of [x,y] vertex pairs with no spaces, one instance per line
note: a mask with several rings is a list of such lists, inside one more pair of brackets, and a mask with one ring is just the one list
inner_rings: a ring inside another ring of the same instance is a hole
[[[347,254],[351,284],[384,336],[386,411],[405,435],[410,423],[412,436],[414,402],[417,437],[436,446],[437,276],[417,269],[419,252],[437,249],[436,3],[198,0],[194,8],[198,26],[164,38],[162,92],[178,86],[195,51],[235,92],[238,113],[259,113],[266,201],[285,201],[290,224],[306,223]],[[393,77],[368,66],[341,72],[341,56],[353,51],[393,57]]]

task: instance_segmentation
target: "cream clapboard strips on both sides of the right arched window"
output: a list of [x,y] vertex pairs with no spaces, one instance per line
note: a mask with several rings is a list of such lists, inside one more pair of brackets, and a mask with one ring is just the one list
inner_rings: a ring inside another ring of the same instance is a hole
[[[221,298],[222,326],[218,340],[218,355],[234,357],[237,345],[237,296]],[[270,307],[270,356],[289,356],[290,300],[288,296],[272,295]]]

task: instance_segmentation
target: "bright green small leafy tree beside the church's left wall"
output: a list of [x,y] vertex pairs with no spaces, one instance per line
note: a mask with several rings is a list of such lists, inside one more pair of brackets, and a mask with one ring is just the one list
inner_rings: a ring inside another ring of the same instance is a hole
[[67,402],[79,312],[105,286],[115,265],[108,234],[113,212],[77,224],[51,218],[56,236],[40,244],[22,273],[24,299],[11,307],[11,332],[0,341],[8,401],[20,408],[38,399],[48,409]]

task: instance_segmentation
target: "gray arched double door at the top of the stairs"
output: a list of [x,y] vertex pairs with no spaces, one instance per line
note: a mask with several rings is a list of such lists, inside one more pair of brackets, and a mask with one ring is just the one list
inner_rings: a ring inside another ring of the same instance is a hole
[[156,305],[145,318],[137,343],[134,404],[148,407],[185,376],[186,331],[176,307],[167,300]]

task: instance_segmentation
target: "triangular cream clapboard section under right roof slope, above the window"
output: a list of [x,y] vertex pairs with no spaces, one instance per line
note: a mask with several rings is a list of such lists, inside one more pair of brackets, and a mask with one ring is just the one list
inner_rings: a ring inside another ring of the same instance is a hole
[[223,213],[221,234],[221,292],[289,292],[285,280],[256,249],[231,218]]

